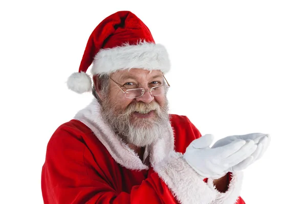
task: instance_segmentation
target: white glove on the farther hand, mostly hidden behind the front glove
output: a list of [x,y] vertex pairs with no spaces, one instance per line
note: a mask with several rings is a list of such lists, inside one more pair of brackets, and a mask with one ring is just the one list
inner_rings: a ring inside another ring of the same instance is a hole
[[236,140],[245,140],[245,141],[250,141],[253,140],[255,144],[257,144],[257,149],[255,152],[251,155],[251,157],[247,158],[243,162],[239,163],[238,165],[234,166],[232,168],[232,172],[235,171],[241,171],[245,168],[247,168],[249,165],[254,163],[256,160],[260,159],[264,152],[267,150],[271,138],[267,134],[262,134],[262,133],[251,133],[247,135],[234,135],[234,136],[228,136],[225,138],[222,138],[215,142],[211,148],[216,148],[216,147],[221,147],[225,146],[227,144],[230,144]]

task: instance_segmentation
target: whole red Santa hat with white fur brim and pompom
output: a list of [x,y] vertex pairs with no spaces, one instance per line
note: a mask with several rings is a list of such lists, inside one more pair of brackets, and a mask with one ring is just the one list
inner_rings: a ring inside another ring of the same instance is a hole
[[87,41],[79,72],[73,73],[68,88],[83,93],[91,91],[92,81],[86,74],[112,73],[120,69],[158,69],[167,72],[170,62],[165,47],[156,44],[147,26],[129,11],[116,12],[102,20]]

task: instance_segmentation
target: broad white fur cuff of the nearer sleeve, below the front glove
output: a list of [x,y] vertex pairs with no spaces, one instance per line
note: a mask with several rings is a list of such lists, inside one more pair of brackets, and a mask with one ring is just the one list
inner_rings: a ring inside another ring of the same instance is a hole
[[180,203],[207,204],[217,195],[217,191],[210,188],[203,181],[203,177],[196,173],[178,152],[170,152],[169,158],[153,166],[153,169]]

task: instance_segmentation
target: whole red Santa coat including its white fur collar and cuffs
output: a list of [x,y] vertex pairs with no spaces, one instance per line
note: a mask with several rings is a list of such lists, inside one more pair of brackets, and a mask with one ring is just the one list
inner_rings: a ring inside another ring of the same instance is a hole
[[242,173],[232,174],[228,191],[220,193],[183,160],[186,147],[200,136],[187,117],[171,115],[169,130],[149,147],[148,167],[101,120],[94,100],[59,126],[48,143],[44,203],[243,204]]

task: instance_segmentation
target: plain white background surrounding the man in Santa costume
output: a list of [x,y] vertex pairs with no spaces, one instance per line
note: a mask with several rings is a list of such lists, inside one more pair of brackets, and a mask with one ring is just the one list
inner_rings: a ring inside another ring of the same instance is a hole
[[61,0],[0,5],[0,203],[42,203],[47,143],[92,98],[65,81],[94,28],[120,10],[168,49],[171,113],[215,140],[271,135],[264,157],[245,170],[246,203],[305,202],[305,1]]

